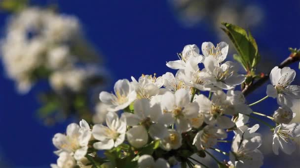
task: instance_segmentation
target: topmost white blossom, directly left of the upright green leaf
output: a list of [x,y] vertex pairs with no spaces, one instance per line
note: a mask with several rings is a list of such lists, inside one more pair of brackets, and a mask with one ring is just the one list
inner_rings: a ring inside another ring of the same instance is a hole
[[211,42],[204,42],[201,46],[203,56],[213,56],[219,63],[225,60],[228,48],[228,44],[225,42],[220,42],[217,44],[217,47],[215,47]]

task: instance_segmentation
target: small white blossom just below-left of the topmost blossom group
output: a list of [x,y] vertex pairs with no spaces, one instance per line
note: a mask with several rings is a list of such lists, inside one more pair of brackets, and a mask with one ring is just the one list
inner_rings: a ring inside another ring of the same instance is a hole
[[175,77],[171,72],[167,72],[162,75],[163,86],[171,91],[176,91],[181,88],[188,88],[188,86],[183,82],[183,80],[179,79],[179,73],[177,72]]

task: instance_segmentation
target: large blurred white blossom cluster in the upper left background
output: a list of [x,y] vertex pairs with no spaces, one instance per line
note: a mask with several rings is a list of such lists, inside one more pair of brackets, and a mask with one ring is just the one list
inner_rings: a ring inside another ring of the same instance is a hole
[[76,65],[79,57],[74,46],[84,42],[80,27],[74,16],[37,7],[9,18],[1,55],[7,76],[16,81],[21,93],[40,78],[48,78],[55,90],[78,91],[86,74],[96,74],[95,68]]

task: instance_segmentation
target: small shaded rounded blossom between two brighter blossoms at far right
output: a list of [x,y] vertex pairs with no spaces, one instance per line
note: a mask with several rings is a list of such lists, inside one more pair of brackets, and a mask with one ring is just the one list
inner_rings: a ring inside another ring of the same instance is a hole
[[289,124],[296,113],[293,113],[292,110],[286,106],[279,107],[273,114],[273,118],[277,123],[280,124]]

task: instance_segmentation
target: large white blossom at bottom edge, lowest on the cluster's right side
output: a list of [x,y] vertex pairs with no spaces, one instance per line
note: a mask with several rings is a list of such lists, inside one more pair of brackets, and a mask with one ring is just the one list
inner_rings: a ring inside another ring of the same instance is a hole
[[263,154],[258,148],[262,145],[262,136],[256,131],[259,125],[251,128],[239,127],[232,141],[229,158],[236,168],[260,168],[263,165]]

